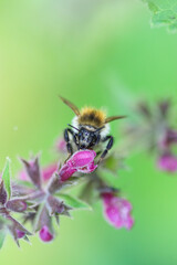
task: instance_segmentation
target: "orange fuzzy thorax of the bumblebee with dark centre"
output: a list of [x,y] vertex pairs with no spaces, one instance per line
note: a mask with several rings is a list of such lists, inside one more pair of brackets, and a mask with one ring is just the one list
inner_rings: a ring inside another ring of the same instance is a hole
[[106,114],[103,110],[85,107],[81,110],[79,116],[79,124],[91,125],[96,128],[104,126]]

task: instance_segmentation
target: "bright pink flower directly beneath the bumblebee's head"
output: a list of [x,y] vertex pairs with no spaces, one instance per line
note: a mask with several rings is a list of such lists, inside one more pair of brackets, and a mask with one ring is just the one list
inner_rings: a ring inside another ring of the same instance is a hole
[[96,152],[94,150],[82,150],[74,152],[59,172],[61,180],[67,180],[75,172],[93,172],[97,168],[97,165],[94,165],[95,157]]

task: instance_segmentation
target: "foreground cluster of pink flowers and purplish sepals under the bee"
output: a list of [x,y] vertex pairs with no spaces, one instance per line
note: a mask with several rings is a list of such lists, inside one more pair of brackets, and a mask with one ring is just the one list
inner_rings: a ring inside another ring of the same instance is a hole
[[[58,151],[66,155],[63,141],[62,145],[58,141]],[[116,229],[124,226],[129,230],[134,223],[131,203],[101,178],[101,168],[117,170],[116,159],[111,155],[100,166],[96,159],[94,150],[79,150],[63,165],[53,162],[43,168],[39,156],[29,161],[21,159],[23,170],[18,173],[15,181],[10,178],[8,160],[0,179],[0,242],[7,232],[11,233],[18,245],[19,240],[29,241],[29,236],[37,233],[41,241],[51,242],[55,237],[53,222],[60,225],[62,215],[70,218],[73,210],[90,209],[88,203],[98,198],[108,223]],[[83,183],[80,199],[66,192],[77,183]],[[14,213],[22,223],[13,218]],[[31,224],[32,232],[24,227],[25,223]]]

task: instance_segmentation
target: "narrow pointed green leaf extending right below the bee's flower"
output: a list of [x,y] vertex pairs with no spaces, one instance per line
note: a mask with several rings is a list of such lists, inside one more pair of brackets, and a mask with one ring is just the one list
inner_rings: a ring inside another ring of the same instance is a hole
[[58,197],[60,199],[62,199],[64,201],[64,203],[71,208],[74,209],[86,209],[86,210],[91,210],[91,206],[85,203],[84,201],[79,200],[77,198],[74,198],[72,195],[69,194],[58,194]]

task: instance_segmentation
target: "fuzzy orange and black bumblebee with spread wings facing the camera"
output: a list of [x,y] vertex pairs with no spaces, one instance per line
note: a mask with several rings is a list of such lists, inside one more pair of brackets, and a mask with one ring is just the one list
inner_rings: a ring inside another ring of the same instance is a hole
[[115,119],[122,119],[125,116],[112,116],[106,117],[105,112],[92,107],[84,107],[81,110],[70,100],[60,96],[62,102],[67,105],[76,115],[72,125],[67,125],[71,128],[64,130],[64,140],[66,142],[67,152],[72,156],[74,147],[73,141],[77,150],[81,149],[95,149],[100,144],[107,142],[101,153],[98,162],[101,162],[108,150],[113,147],[113,136],[108,135],[108,123]]

